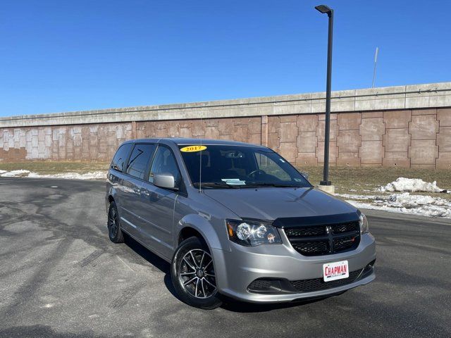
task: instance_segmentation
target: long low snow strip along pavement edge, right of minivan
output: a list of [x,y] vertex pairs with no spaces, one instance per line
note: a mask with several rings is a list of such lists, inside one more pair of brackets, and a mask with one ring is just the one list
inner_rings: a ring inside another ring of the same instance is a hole
[[[359,196],[360,197],[360,196]],[[367,196],[370,202],[347,200],[356,208],[409,213],[412,215],[451,218],[451,201],[440,197],[411,195],[408,192],[390,196]]]

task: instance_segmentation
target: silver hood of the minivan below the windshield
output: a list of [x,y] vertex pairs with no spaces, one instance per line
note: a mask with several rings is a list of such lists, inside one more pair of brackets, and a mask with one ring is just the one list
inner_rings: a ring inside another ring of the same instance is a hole
[[357,208],[314,188],[205,189],[240,218],[275,220],[355,213]]

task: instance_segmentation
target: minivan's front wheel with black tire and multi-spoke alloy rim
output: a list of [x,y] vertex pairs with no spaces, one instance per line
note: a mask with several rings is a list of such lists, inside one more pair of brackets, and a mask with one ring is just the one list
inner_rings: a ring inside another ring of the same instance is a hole
[[205,310],[221,306],[213,259],[201,239],[190,237],[180,243],[171,263],[171,279],[176,294],[184,303]]

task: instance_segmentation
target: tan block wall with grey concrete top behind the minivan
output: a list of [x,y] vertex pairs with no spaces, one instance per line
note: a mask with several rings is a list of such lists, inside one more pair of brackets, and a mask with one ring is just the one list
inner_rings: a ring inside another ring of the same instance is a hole
[[[0,118],[0,161],[109,161],[125,139],[174,136],[264,144],[318,165],[323,94]],[[451,82],[333,92],[330,163],[451,168],[450,107]]]

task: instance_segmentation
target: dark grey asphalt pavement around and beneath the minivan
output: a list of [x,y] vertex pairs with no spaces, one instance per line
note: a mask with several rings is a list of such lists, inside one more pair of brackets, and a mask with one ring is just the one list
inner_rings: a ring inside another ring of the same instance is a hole
[[214,311],[106,230],[104,182],[0,177],[0,337],[451,337],[451,221],[371,212],[376,280],[321,301]]

